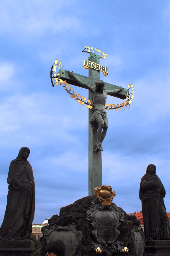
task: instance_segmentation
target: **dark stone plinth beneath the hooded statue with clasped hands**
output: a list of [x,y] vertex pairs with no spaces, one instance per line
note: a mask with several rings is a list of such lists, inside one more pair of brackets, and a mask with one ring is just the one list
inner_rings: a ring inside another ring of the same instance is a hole
[[31,241],[0,240],[0,256],[31,256]]

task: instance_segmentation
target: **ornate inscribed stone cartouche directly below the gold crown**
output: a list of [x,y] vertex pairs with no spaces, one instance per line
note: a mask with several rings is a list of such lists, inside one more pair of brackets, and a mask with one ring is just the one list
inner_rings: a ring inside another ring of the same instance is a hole
[[94,251],[97,247],[102,249],[102,246],[111,246],[116,251],[122,252],[123,243],[117,240],[120,234],[117,228],[123,222],[123,217],[123,210],[113,204],[97,204],[87,211],[86,219],[91,221],[93,227],[92,248]]

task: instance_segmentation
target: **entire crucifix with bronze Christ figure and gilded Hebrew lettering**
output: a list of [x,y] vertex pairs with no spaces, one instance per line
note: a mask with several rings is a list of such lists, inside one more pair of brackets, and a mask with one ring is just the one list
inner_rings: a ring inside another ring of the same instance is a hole
[[[107,120],[107,114],[105,109],[108,109],[108,107],[113,108],[114,106],[116,108],[116,105],[113,105],[113,104],[106,104],[107,108],[105,108],[107,94],[124,100],[124,99],[129,99],[128,98],[129,92],[127,89],[122,88],[120,86],[116,86],[114,84],[108,84],[103,81],[100,81],[100,71],[102,71],[104,75],[107,75],[108,68],[100,65],[100,56],[96,52],[92,53],[89,50],[88,52],[90,53],[88,60],[84,60],[84,67],[86,69],[87,68],[89,69],[88,77],[66,71],[62,68],[58,71],[58,74],[54,74],[54,71],[56,72],[56,66],[52,66],[51,82],[53,86],[54,84],[61,85],[62,83],[65,83],[65,86],[63,87],[69,93],[70,91],[72,91],[72,88],[70,88],[70,90],[67,89],[70,86],[69,84],[89,89],[88,103],[85,102],[86,98],[83,96],[81,96],[80,97],[81,100],[79,100],[78,93],[77,94],[75,94],[74,92],[73,94],[70,93],[71,94],[70,97],[71,98],[74,97],[76,100],[78,99],[78,102],[82,105],[84,105],[84,103],[87,104],[86,107],[89,108],[89,196],[90,196],[90,195],[95,195],[94,188],[100,187],[102,185],[101,151],[103,149],[102,149],[101,143],[106,135],[106,131],[108,127],[108,120]],[[58,64],[58,63],[60,66],[63,66],[62,63],[57,60],[55,64]],[[55,83],[53,83],[53,78],[55,79]],[[96,88],[99,88],[99,87],[102,90],[100,90],[100,92],[99,91],[96,92]],[[133,89],[133,85],[130,85],[128,87]],[[130,98],[132,99],[132,97]],[[132,100],[129,99],[129,101],[132,101]],[[129,101],[126,100],[126,103],[124,102],[124,103],[121,103],[122,105],[121,104],[120,105],[122,107],[124,105],[128,108]],[[120,105],[119,104],[117,105],[120,108]],[[103,129],[103,132],[101,132],[102,129]]]

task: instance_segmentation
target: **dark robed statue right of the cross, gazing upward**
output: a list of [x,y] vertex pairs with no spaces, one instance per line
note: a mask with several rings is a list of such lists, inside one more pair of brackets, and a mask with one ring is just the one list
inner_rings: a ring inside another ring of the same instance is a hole
[[141,179],[139,190],[146,242],[170,238],[164,197],[165,188],[156,175],[156,166],[149,164],[146,168],[146,174]]

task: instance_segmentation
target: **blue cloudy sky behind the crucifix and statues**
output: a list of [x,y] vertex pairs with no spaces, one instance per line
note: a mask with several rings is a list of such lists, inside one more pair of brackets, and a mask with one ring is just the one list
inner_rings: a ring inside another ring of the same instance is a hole
[[[107,83],[134,85],[129,109],[107,111],[102,178],[127,213],[141,210],[139,184],[155,164],[170,211],[169,1],[1,1],[0,4],[0,225],[9,164],[30,148],[36,184],[34,223],[88,196],[88,110],[50,82],[55,59],[88,76],[84,45],[107,53]],[[84,89],[74,88],[87,96]],[[81,91],[83,90],[83,91]],[[117,104],[110,97],[107,103]]]

